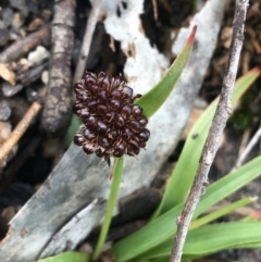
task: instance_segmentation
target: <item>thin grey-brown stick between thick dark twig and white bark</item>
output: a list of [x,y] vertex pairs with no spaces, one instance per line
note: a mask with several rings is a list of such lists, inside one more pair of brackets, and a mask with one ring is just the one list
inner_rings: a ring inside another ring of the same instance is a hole
[[103,0],[95,0],[92,3],[92,9],[89,14],[88,23],[86,25],[85,36],[83,39],[83,45],[79,53],[78,63],[75,70],[73,83],[78,82],[85,72],[85,67],[86,67],[86,63],[87,63],[89,50],[90,50],[90,43],[95,33],[96,24],[100,14],[102,1]]

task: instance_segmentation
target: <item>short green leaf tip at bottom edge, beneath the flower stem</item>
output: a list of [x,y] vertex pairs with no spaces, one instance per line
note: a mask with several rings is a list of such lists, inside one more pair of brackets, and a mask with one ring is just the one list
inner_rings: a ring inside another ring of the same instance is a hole
[[64,252],[38,262],[87,262],[88,255],[82,252]]

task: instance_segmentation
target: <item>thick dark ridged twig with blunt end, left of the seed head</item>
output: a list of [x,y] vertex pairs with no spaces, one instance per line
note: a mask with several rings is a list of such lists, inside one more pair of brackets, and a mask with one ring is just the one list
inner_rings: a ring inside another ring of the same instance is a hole
[[71,122],[71,55],[74,40],[75,1],[55,1],[52,54],[41,125],[51,136],[63,135]]

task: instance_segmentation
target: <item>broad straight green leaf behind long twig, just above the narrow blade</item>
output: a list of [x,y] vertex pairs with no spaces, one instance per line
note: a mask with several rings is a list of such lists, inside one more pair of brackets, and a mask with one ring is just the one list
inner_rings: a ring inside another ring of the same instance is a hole
[[[213,183],[201,198],[194,219],[202,212],[235,192],[261,174],[261,157],[253,159],[235,172]],[[181,213],[184,202],[152,220],[145,227],[117,241],[112,251],[116,261],[133,259],[173,237],[176,233],[175,217]]]

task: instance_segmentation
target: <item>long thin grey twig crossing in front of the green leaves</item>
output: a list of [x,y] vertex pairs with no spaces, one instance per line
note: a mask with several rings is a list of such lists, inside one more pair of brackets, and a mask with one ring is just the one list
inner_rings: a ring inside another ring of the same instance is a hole
[[220,145],[226,121],[232,112],[232,91],[235,84],[238,61],[244,41],[245,20],[248,0],[237,0],[233,21],[233,37],[229,58],[222,84],[220,101],[204,144],[197,174],[182,214],[177,217],[177,233],[172,249],[171,262],[179,262],[189,223],[194,211],[208,184],[208,173]]

